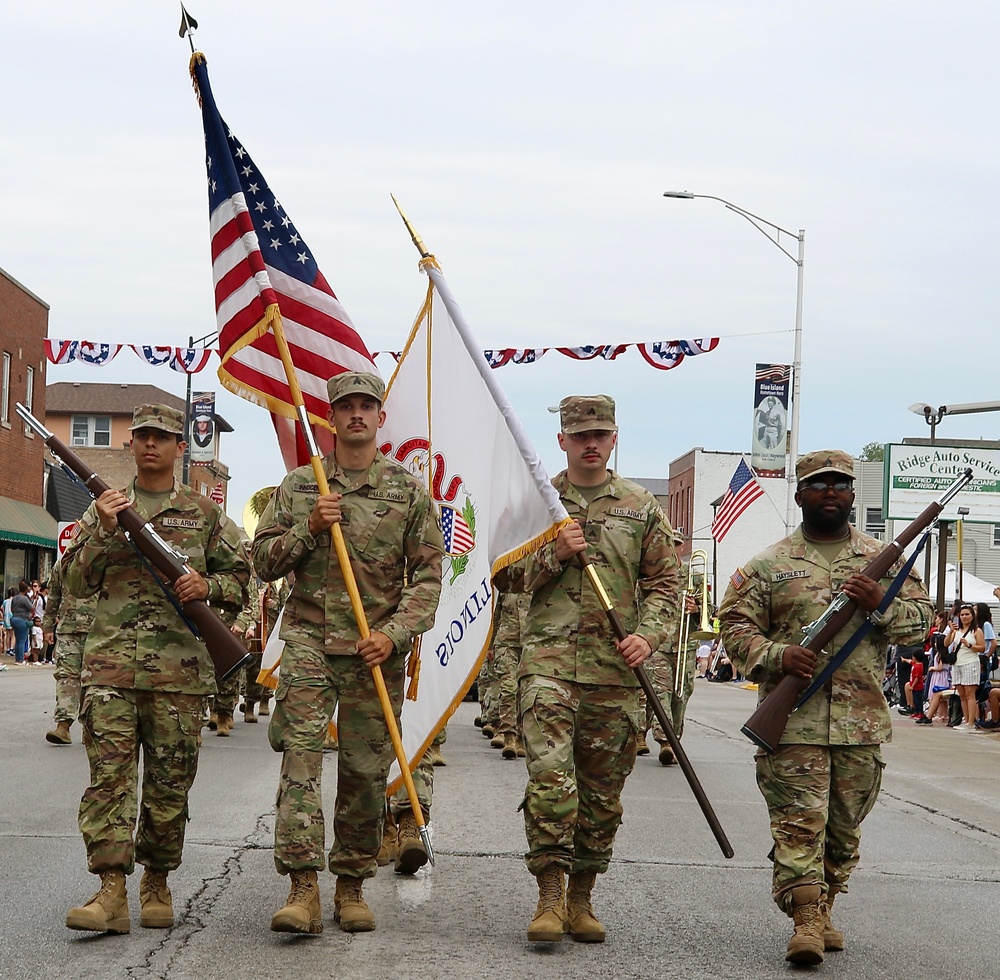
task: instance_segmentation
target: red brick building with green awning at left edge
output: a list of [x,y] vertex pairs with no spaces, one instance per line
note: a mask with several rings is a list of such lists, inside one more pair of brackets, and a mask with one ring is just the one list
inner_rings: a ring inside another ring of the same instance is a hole
[[3,589],[48,577],[56,522],[45,510],[45,445],[18,418],[21,402],[45,416],[49,305],[0,269],[0,571]]

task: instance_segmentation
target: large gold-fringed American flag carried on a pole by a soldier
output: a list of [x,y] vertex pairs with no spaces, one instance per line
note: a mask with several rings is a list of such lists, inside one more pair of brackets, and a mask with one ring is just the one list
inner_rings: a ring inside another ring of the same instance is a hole
[[312,251],[219,115],[204,57],[192,61],[205,127],[219,379],[275,415],[296,417],[268,329],[280,310],[306,409],[313,422],[326,426],[329,378],[342,371],[374,371],[374,362]]

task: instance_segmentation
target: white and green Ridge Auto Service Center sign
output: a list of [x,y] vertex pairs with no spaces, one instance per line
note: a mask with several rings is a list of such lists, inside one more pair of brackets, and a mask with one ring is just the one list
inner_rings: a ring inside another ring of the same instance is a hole
[[962,515],[962,520],[1000,524],[1000,449],[890,443],[884,459],[882,511],[886,520],[912,520],[971,468],[972,482],[955,495],[941,519],[958,520],[958,508],[968,507],[969,513]]

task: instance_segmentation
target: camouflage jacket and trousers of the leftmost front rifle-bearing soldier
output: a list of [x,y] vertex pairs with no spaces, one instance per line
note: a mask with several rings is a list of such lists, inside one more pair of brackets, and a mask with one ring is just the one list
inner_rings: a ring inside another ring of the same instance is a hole
[[[123,492],[204,576],[213,608],[235,615],[246,601],[250,568],[239,530],[222,509],[177,484],[156,513],[145,512],[134,480]],[[88,866],[130,874],[138,861],[170,871],[181,863],[202,706],[215,690],[211,658],[122,532],[104,532],[96,505],[80,520],[62,562],[67,589],[97,596],[81,675],[91,785],[80,803],[80,830]]]

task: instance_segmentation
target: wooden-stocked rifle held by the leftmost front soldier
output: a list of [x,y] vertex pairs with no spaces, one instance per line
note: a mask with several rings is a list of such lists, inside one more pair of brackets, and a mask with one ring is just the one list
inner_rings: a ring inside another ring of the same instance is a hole
[[[45,445],[49,447],[49,452],[59,461],[63,469],[78,479],[95,500],[106,490],[111,489],[72,449],[46,429],[20,402],[17,402],[15,407],[25,424],[30,425],[42,437]],[[170,584],[193,571],[187,564],[187,555],[181,554],[172,544],[164,541],[153,529],[153,525],[144,521],[134,507],[128,507],[118,514],[118,526],[146,561]],[[191,628],[191,632],[204,641],[212,658],[216,677],[220,681],[232,677],[253,659],[246,647],[207,602],[196,599],[185,602],[182,608],[184,616],[189,620],[187,625]]]

